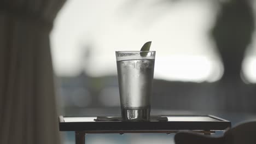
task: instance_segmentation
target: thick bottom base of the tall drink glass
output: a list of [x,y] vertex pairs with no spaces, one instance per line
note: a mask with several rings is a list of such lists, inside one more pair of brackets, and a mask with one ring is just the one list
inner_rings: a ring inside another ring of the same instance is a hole
[[150,106],[139,109],[126,109],[121,110],[123,121],[149,121]]

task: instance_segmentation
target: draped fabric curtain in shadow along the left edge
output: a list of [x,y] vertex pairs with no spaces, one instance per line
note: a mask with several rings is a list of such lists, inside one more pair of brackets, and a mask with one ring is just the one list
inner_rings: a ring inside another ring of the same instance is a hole
[[65,0],[0,1],[0,143],[60,143],[49,33]]

